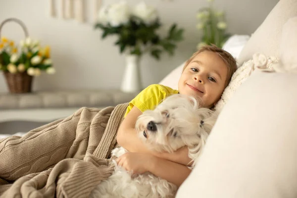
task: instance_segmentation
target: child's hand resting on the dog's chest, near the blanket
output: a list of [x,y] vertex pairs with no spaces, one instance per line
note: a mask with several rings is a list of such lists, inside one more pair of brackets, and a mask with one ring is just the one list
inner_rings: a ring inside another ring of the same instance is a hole
[[125,154],[119,156],[116,159],[116,162],[127,171],[132,171],[133,174],[143,174],[148,171],[153,159],[154,156],[151,154],[126,152]]

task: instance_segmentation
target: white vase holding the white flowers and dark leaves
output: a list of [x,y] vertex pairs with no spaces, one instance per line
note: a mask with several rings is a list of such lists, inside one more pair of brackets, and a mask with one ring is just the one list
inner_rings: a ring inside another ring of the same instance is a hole
[[126,67],[121,85],[122,92],[135,93],[142,90],[139,62],[138,55],[126,55]]

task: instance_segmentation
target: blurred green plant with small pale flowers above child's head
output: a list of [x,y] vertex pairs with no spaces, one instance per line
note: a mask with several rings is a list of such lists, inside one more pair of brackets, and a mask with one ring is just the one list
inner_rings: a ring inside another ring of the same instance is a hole
[[211,44],[222,48],[224,43],[231,36],[226,33],[227,23],[225,20],[225,12],[214,9],[214,0],[207,1],[209,2],[209,6],[199,9],[197,13],[197,29],[202,31],[202,38],[197,48],[199,49],[202,45]]

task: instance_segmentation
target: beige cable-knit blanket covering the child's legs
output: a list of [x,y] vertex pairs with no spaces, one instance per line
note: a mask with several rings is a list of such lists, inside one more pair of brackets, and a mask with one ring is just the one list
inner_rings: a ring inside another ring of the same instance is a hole
[[111,175],[128,104],[73,115],[0,140],[0,198],[84,198]]

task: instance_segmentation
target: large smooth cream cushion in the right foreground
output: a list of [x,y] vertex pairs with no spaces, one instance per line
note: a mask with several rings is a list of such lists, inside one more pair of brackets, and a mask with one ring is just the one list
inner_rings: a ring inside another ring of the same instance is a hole
[[176,198],[296,198],[296,85],[295,74],[251,74]]

